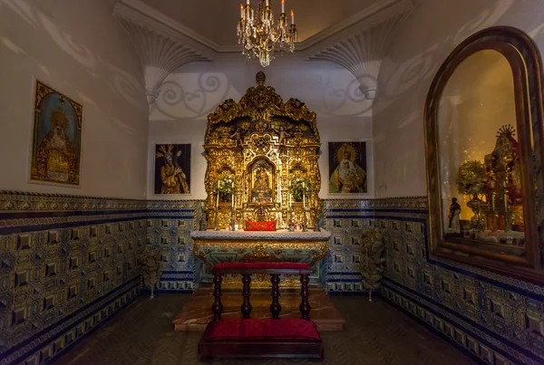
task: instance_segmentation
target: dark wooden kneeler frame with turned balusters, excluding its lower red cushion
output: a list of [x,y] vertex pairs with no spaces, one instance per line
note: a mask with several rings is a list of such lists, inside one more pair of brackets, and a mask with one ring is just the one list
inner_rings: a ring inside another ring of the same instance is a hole
[[[270,283],[272,283],[272,303],[270,312],[273,320],[281,321],[279,313],[281,305],[279,304],[279,275],[280,274],[300,274],[302,297],[300,306],[301,319],[310,320],[310,304],[308,302],[308,283],[309,269],[211,269],[214,274],[214,298],[211,306],[213,312],[213,322],[221,320],[223,304],[221,303],[221,282],[223,274],[242,274],[243,283],[243,303],[240,307],[244,320],[250,321],[251,303],[249,302],[251,274],[270,274]],[[209,323],[206,331],[199,341],[199,355],[202,358],[314,358],[323,359],[324,349],[321,341],[259,341],[259,340],[232,340],[232,341],[208,341],[209,332],[212,331],[213,322]]]

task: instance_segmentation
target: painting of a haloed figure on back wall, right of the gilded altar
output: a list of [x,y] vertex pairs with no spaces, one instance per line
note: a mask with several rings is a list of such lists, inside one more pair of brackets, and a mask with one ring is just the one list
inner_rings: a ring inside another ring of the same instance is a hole
[[365,194],[366,142],[329,142],[330,194]]

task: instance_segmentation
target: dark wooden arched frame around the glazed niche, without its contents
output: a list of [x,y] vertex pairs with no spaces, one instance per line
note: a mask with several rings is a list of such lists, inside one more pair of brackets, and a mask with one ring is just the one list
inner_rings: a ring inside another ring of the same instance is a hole
[[[442,200],[438,148],[438,109],[442,91],[456,67],[472,53],[481,50],[501,53],[510,63],[514,78],[516,124],[520,142],[523,217],[526,227],[526,256],[493,253],[478,247],[443,240]],[[425,104],[425,153],[429,189],[431,254],[464,264],[509,274],[536,283],[544,283],[541,248],[544,233],[544,133],[542,111],[542,61],[537,45],[528,34],[512,27],[498,26],[472,34],[457,46],[442,63],[432,81]],[[531,134],[534,150],[531,148]],[[534,161],[533,161],[534,153]],[[535,173],[533,174],[533,171]],[[537,191],[533,188],[537,184]],[[539,207],[539,212],[537,212]]]

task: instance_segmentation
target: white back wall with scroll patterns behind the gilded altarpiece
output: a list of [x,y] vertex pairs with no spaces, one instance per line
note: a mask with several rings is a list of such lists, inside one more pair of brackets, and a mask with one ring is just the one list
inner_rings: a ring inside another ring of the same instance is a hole
[[[206,198],[203,183],[207,162],[202,156],[202,145],[208,114],[226,99],[238,102],[248,87],[257,85],[255,75],[260,70],[257,65],[239,61],[199,63],[183,67],[167,78],[151,110],[148,147],[150,198]],[[296,98],[305,102],[310,110],[316,111],[323,152],[319,159],[322,175],[320,197],[328,197],[327,142],[372,139],[370,102],[364,101],[354,76],[333,64],[294,64],[275,60],[262,71],[267,75],[267,86],[274,87],[284,101]],[[160,142],[193,143],[190,196],[153,195],[153,145]],[[369,176],[372,176],[372,159],[369,165]],[[369,184],[369,191],[372,192],[372,178]]]

